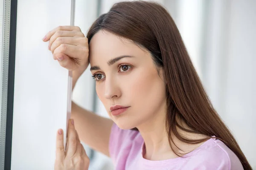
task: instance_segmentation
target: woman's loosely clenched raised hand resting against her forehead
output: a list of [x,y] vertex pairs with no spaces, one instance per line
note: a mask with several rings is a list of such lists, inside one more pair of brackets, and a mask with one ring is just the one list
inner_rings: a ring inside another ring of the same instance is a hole
[[49,41],[48,49],[62,67],[81,75],[89,65],[88,40],[78,26],[58,26],[49,31],[43,41]]

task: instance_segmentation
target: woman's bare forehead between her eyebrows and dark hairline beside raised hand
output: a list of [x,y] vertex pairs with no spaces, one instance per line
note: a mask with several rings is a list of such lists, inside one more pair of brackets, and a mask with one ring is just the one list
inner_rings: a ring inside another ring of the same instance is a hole
[[121,55],[145,55],[145,51],[131,40],[118,37],[108,31],[98,31],[90,41],[89,58],[91,63],[95,60],[105,61]]

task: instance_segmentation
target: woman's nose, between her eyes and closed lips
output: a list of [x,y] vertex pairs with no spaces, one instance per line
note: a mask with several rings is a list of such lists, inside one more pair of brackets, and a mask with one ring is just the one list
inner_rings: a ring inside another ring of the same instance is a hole
[[106,77],[104,97],[106,99],[113,99],[114,97],[118,98],[120,96],[121,91],[116,80],[110,77]]

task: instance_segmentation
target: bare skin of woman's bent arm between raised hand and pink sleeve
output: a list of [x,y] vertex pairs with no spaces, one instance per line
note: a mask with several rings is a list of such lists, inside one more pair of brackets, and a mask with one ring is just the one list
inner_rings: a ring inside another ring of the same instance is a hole
[[[76,74],[76,73],[74,73]],[[73,74],[73,88],[77,78]],[[108,143],[113,121],[96,115],[75,102],[72,102],[71,119],[74,119],[76,131],[82,142],[106,156],[109,156]]]

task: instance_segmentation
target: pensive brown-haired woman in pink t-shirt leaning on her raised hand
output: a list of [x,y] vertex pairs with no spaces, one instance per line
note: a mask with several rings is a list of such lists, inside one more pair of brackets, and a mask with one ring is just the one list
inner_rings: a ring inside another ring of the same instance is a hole
[[59,130],[56,170],[88,168],[79,137],[110,156],[116,170],[252,169],[212,107],[162,6],[116,3],[87,38],[79,27],[60,26],[48,40],[53,58],[73,71],[73,86],[90,62],[97,95],[111,118],[73,103],[76,130],[70,123],[66,153]]

